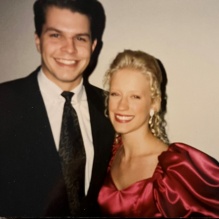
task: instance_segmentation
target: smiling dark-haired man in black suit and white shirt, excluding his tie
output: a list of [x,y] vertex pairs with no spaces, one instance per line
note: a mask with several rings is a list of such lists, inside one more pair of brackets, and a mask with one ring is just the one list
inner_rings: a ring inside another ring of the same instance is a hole
[[85,198],[77,216],[98,216],[96,199],[114,131],[104,116],[102,90],[83,76],[95,67],[91,58],[101,48],[100,9],[96,0],[34,3],[41,66],[26,78],[0,85],[0,216],[74,215],[58,153],[63,91],[74,93],[71,103],[86,152]]

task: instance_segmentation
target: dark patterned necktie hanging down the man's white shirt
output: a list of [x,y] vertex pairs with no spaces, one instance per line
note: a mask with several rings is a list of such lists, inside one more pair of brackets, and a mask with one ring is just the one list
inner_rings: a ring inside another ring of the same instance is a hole
[[61,95],[66,101],[62,117],[59,155],[68,193],[69,207],[72,215],[76,216],[85,196],[86,156],[77,113],[71,105],[71,98],[74,94],[64,91]]

